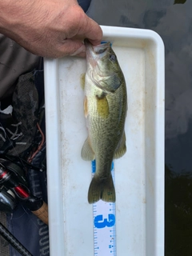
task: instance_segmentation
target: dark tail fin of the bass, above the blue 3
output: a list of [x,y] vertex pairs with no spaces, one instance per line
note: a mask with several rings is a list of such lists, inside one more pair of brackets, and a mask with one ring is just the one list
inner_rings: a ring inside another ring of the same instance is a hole
[[105,179],[94,175],[94,178],[90,182],[88,202],[98,202],[99,199],[105,202],[115,202],[114,182],[111,175]]

